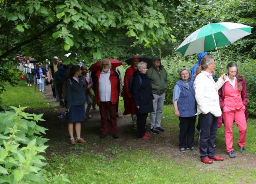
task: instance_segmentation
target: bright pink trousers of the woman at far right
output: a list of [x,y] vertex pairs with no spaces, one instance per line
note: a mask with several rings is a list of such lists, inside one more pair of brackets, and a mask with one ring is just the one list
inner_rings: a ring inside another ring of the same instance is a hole
[[231,110],[228,107],[223,108],[223,118],[225,124],[225,140],[226,140],[226,150],[230,152],[233,149],[233,122],[235,120],[236,125],[239,129],[239,140],[238,145],[244,147],[246,142],[246,119],[244,115],[245,107],[240,109]]

